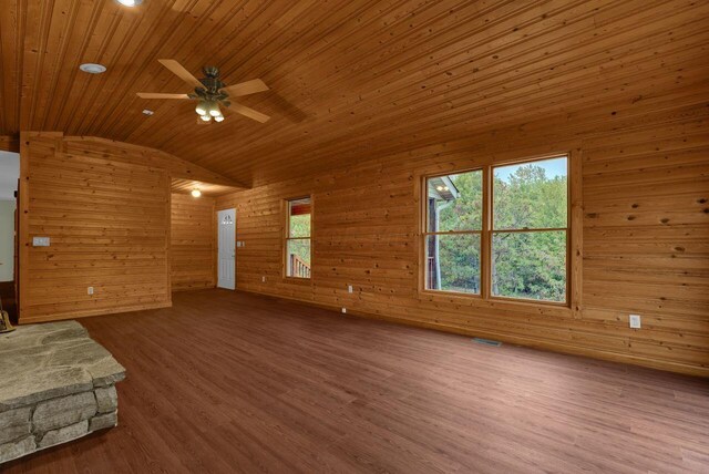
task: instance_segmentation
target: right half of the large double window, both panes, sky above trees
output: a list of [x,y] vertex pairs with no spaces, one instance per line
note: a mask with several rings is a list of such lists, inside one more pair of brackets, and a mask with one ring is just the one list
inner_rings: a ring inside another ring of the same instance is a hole
[[566,156],[493,168],[492,295],[566,301]]

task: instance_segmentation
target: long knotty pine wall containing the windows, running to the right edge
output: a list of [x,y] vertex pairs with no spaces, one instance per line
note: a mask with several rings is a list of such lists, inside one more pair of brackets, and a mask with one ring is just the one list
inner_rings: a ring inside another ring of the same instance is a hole
[[[360,159],[217,198],[237,208],[242,290],[511,343],[709,375],[707,89]],[[582,287],[573,308],[418,291],[423,174],[580,154]],[[282,278],[282,199],[314,196],[312,280]],[[266,281],[261,277],[266,277]],[[347,286],[354,292],[348,293]],[[628,313],[643,329],[628,328]]]

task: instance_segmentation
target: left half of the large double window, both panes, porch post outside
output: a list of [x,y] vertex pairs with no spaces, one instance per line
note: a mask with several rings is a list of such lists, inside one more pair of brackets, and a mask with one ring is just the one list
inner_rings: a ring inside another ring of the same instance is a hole
[[425,288],[480,295],[483,172],[427,179]]

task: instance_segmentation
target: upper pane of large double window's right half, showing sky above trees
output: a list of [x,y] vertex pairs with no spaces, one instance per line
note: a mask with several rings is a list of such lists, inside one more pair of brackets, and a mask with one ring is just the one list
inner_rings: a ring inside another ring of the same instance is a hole
[[566,157],[499,166],[493,173],[493,228],[566,227]]

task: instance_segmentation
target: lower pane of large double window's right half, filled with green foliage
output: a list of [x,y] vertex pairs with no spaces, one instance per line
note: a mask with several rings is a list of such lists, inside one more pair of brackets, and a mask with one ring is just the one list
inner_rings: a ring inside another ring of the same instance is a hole
[[566,231],[495,233],[492,293],[566,301]]

